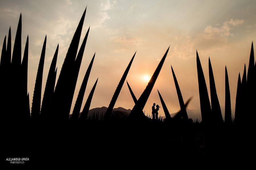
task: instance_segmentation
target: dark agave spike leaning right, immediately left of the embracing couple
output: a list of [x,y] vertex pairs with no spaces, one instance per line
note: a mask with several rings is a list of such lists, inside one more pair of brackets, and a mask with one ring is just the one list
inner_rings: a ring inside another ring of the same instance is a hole
[[158,64],[153,76],[151,77],[150,81],[148,82],[148,85],[146,86],[146,89],[143,91],[143,93],[141,94],[141,96],[139,97],[137,103],[134,105],[131,113],[130,113],[130,116],[135,116],[136,113],[139,113],[143,110],[145,104],[146,104],[146,101],[148,100],[148,97],[153,89],[153,86],[156,82],[156,79],[161,71],[161,68],[164,64],[164,60],[167,56],[167,53],[168,53],[168,50],[169,50],[170,46],[168,47],[168,49],[166,50],[163,58],[161,59],[160,63]]

